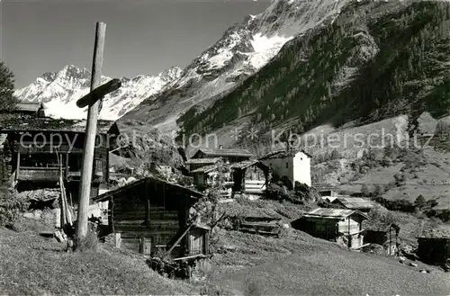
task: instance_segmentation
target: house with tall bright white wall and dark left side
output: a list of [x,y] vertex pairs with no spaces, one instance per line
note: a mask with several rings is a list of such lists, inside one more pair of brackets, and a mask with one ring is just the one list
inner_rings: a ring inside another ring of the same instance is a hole
[[280,178],[287,177],[295,182],[311,186],[311,155],[304,150],[280,150],[259,158]]

